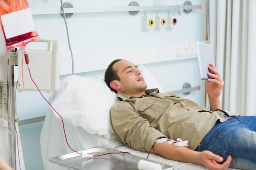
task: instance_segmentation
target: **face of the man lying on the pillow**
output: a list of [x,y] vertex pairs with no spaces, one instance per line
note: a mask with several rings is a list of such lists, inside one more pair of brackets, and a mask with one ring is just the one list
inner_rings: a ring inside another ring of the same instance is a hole
[[114,80],[116,85],[118,85],[116,86],[118,92],[135,94],[146,90],[147,84],[137,65],[121,60],[113,65],[113,69],[117,71],[117,75],[120,78],[120,81]]

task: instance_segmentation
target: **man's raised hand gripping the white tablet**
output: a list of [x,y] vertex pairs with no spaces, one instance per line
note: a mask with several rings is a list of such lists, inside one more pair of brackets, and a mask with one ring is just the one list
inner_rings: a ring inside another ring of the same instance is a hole
[[208,66],[208,68],[213,73],[208,73],[208,75],[213,79],[207,80],[206,91],[209,96],[209,99],[216,100],[219,99],[219,96],[221,95],[221,91],[224,86],[224,81],[221,79],[218,70],[212,63]]

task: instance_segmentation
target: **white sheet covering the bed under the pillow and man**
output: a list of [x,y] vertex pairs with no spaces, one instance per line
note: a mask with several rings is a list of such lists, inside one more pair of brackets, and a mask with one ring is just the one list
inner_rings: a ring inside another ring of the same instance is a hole
[[[49,97],[48,101],[51,103],[57,92],[53,92]],[[87,133],[81,127],[75,127],[69,124],[65,124],[65,131],[67,135],[67,140],[74,150],[84,150],[91,147],[96,146],[105,146],[112,149],[120,150],[122,152],[129,152],[133,155],[140,156],[143,158],[147,157],[147,153],[143,153],[129,147],[124,146],[118,139],[106,139],[104,136],[92,135]],[[66,144],[65,136],[63,133],[62,123],[59,119],[57,119],[52,113],[51,109],[48,109],[46,119],[44,122],[44,126],[41,131],[41,139],[40,139],[41,152],[44,161],[44,169],[45,170],[66,170],[64,167],[60,167],[48,161],[49,158],[54,156],[63,155],[66,153],[71,153],[72,151]],[[174,167],[179,167],[183,162],[172,161],[169,159],[165,159],[161,156],[150,154],[148,159],[158,161],[164,164],[169,164]],[[198,164],[187,164],[180,167],[179,170],[207,170],[207,168],[198,165]],[[237,170],[231,169],[228,170]]]

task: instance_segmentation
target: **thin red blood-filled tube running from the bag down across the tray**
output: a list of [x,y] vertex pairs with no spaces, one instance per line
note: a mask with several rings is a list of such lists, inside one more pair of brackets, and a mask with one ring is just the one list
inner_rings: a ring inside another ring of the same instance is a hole
[[[22,56],[23,57],[23,56]],[[26,64],[27,64],[27,67],[28,67],[28,70],[29,70],[29,76],[32,80],[32,82],[35,84],[36,88],[38,89],[39,93],[41,94],[41,96],[44,98],[44,100],[50,105],[50,107],[58,114],[58,116],[61,117],[61,115],[52,107],[52,105],[47,101],[47,99],[45,99],[44,95],[41,93],[41,91],[39,90],[38,86],[36,85],[36,83],[34,82],[32,76],[31,76],[31,72],[30,72],[30,69],[29,69],[29,60],[28,60],[28,55],[26,55],[25,57],[25,60],[26,60]],[[65,127],[64,127],[64,121],[61,117],[61,122],[62,122],[62,126],[63,126],[63,130],[64,130],[64,135],[65,135],[65,139],[66,139],[66,142],[67,142],[67,136],[66,136],[66,132],[65,132]],[[73,150],[70,145],[68,144],[67,142],[67,146]],[[73,150],[75,153],[78,153],[81,155],[81,153],[77,152],[76,150]],[[128,153],[128,152],[117,152],[117,153]],[[93,157],[96,157],[96,156],[104,156],[104,155],[108,155],[108,154],[117,154],[117,153],[105,153],[105,154],[102,154],[102,155],[93,155]],[[131,153],[128,153],[128,154],[131,154]]]

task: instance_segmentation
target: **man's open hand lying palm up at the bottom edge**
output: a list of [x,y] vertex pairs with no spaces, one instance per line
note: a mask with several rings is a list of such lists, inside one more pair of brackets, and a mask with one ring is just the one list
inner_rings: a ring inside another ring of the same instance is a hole
[[231,156],[228,156],[227,160],[223,164],[219,164],[218,162],[222,162],[223,158],[208,150],[201,152],[200,159],[201,164],[209,170],[227,170],[232,160]]

